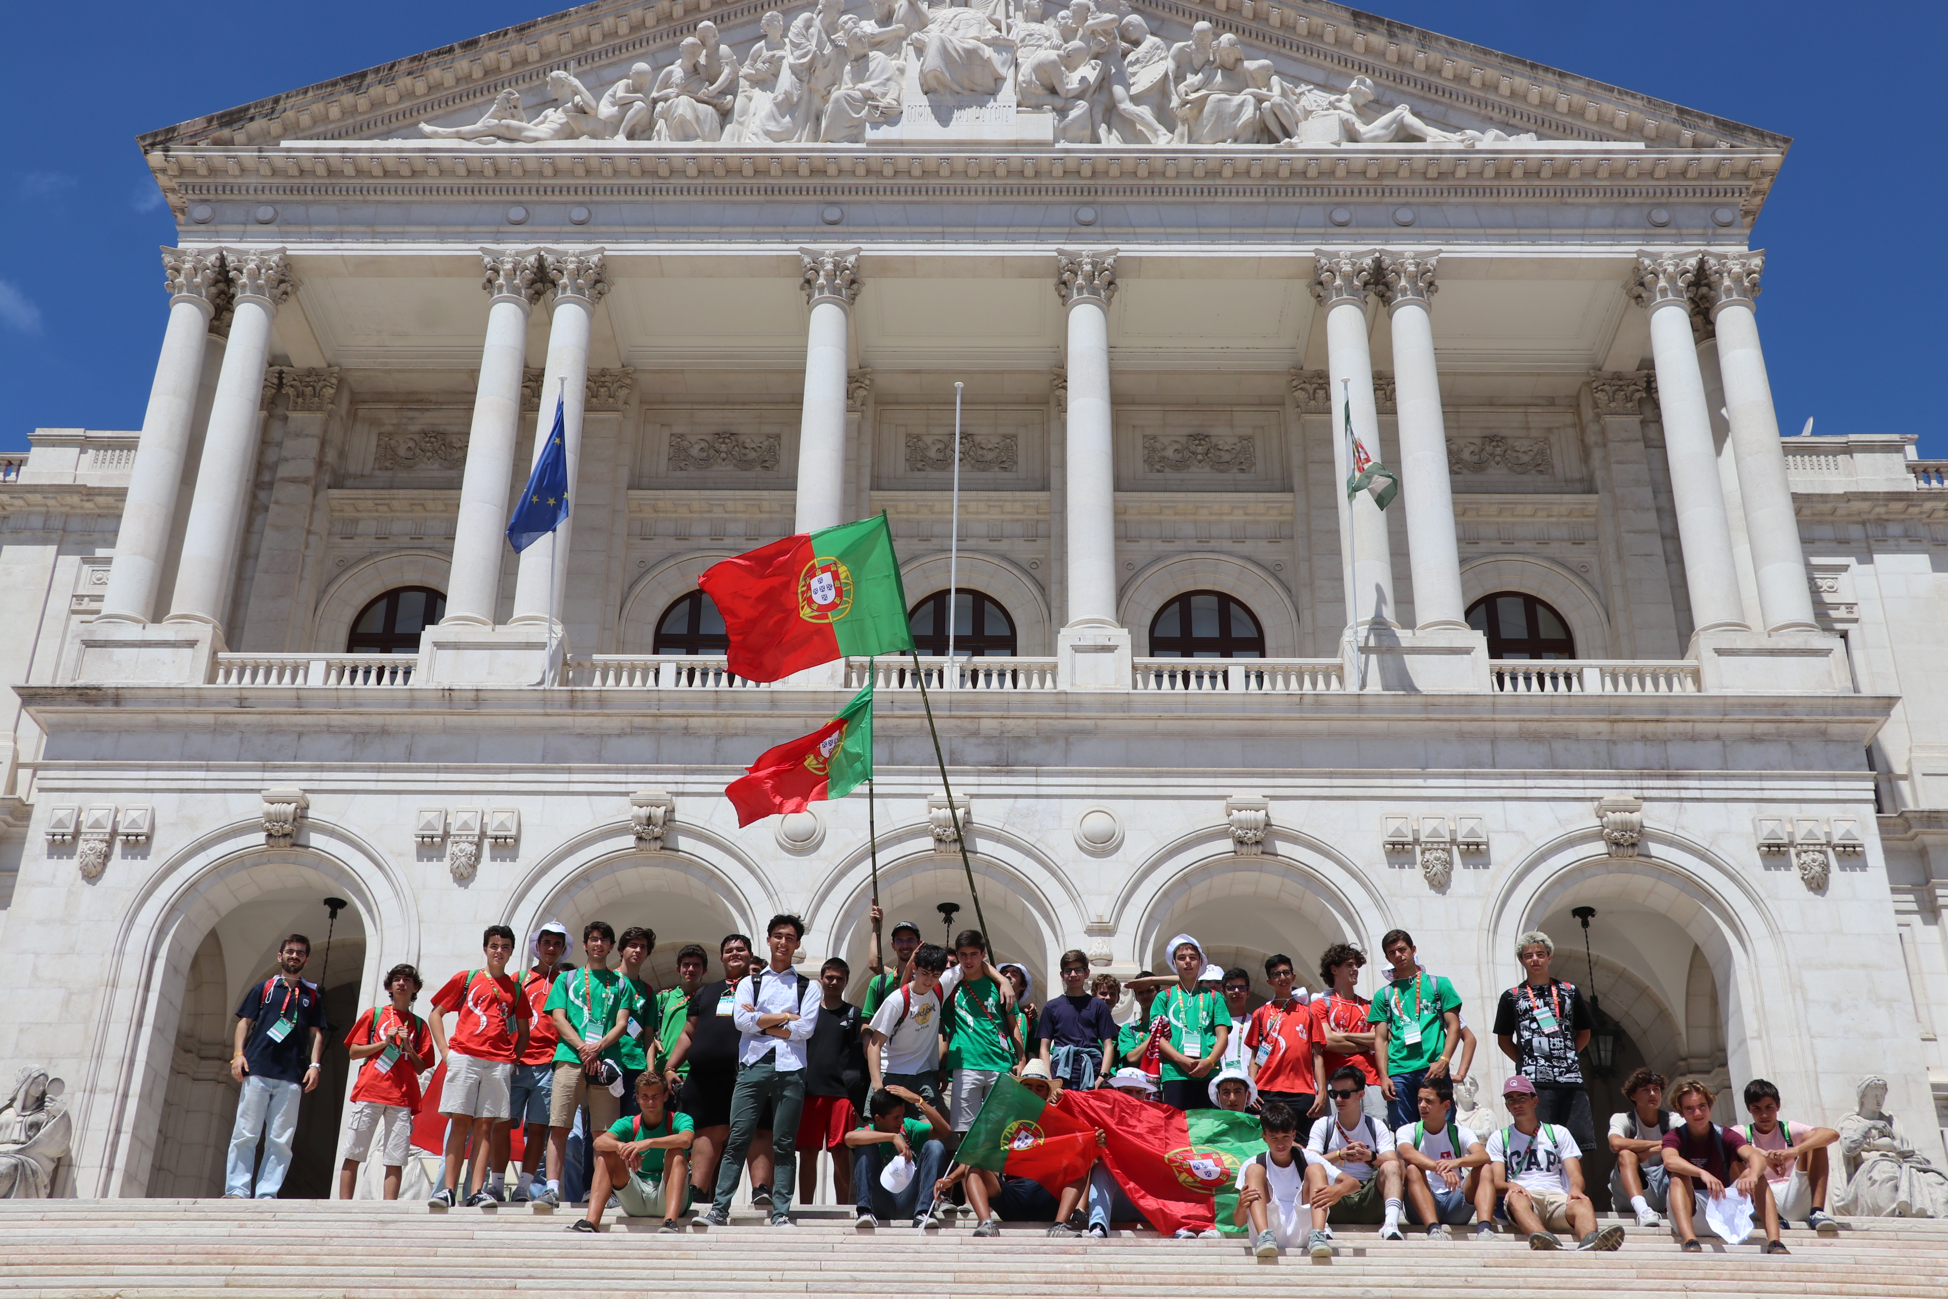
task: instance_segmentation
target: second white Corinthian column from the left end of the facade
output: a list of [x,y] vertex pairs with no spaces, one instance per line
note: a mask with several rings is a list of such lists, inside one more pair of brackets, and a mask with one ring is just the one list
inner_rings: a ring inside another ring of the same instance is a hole
[[210,427],[203,436],[203,464],[197,465],[169,610],[169,621],[206,623],[218,631],[236,584],[238,543],[257,469],[257,411],[271,356],[271,321],[296,288],[281,247],[228,249],[224,265],[236,294],[236,315],[224,368],[216,376]]

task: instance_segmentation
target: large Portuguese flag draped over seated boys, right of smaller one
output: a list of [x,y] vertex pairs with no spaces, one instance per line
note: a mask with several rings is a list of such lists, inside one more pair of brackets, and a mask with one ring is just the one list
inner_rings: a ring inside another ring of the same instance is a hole
[[1237,1170],[1264,1149],[1258,1118],[1231,1110],[1188,1114],[1116,1091],[1064,1093],[1062,1108],[1108,1135],[1103,1163],[1138,1213],[1163,1235],[1179,1227],[1243,1235],[1231,1225]]

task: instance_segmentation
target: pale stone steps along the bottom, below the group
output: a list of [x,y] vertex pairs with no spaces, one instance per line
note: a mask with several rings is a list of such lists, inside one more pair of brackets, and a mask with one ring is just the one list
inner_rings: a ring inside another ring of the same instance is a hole
[[[1786,1233],[1788,1258],[1757,1244],[1679,1254],[1666,1231],[1630,1231],[1615,1254],[1531,1252],[1492,1243],[1338,1229],[1330,1262],[1260,1262],[1241,1241],[1050,1241],[1007,1227],[976,1241],[960,1217],[941,1231],[855,1231],[845,1209],[806,1209],[793,1231],[740,1213],[730,1227],[616,1219],[600,1237],[569,1235],[573,1211],[526,1206],[432,1211],[425,1204],[277,1200],[0,1202],[0,1299],[312,1295],[454,1299],[477,1293],[953,1295],[1025,1299],[1186,1293],[1292,1295],[1915,1295],[1948,1291],[1948,1221],[1858,1221],[1837,1239]],[[746,1225],[748,1223],[748,1225]],[[1757,1237],[1753,1237],[1757,1241]]]

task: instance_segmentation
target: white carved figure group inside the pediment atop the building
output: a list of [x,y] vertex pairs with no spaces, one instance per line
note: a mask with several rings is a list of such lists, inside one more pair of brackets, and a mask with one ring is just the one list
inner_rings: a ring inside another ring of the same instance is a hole
[[843,8],[818,0],[789,21],[781,10],[764,14],[742,62],[701,21],[660,72],[639,62],[596,95],[559,68],[547,74],[551,103],[532,119],[505,90],[475,123],[421,130],[483,144],[857,144],[898,138],[900,117],[925,103],[943,127],[964,111],[984,123],[1040,115],[1054,144],[1473,148],[1535,138],[1432,125],[1405,103],[1383,105],[1364,76],[1344,90],[1295,80],[1208,21],[1167,43],[1143,16],[1097,0],[1046,18],[1042,0],[873,0],[871,19]]

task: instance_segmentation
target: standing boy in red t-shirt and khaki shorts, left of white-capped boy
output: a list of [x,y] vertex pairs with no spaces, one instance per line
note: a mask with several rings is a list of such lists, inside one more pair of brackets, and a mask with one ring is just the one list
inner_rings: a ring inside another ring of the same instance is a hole
[[[432,993],[434,1040],[446,1050],[446,1081],[440,1087],[440,1114],[446,1116],[446,1184],[432,1194],[432,1206],[450,1209],[460,1194],[460,1165],[468,1157],[468,1135],[473,1149],[491,1149],[493,1126],[506,1118],[508,1083],[514,1061],[528,1050],[528,999],[506,972],[514,954],[514,931],[489,925],[481,935],[487,952],[485,970],[462,970]],[[454,1036],[446,1038],[446,1017],[458,1013]],[[452,1122],[452,1120],[469,1122]],[[468,1207],[497,1204],[481,1186],[487,1180],[487,1159],[473,1161]]]

